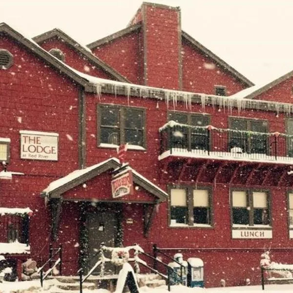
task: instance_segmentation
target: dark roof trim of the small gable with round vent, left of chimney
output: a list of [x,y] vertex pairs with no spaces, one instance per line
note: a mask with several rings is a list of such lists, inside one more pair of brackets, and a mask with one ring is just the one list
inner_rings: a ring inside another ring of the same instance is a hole
[[45,32],[39,36],[36,36],[33,38],[33,40],[37,43],[44,42],[51,38],[60,38],[63,41],[65,41],[67,44],[69,44],[74,50],[82,54],[87,60],[89,60],[94,65],[100,67],[104,71],[106,71],[109,75],[111,75],[113,78],[117,79],[120,82],[130,83],[126,77],[121,75],[119,72],[117,72],[115,69],[107,65],[105,62],[100,60],[97,56],[92,54],[92,52],[87,48],[81,45],[79,42],[76,42],[71,37],[69,37],[67,34],[65,34],[61,29],[54,28],[48,32]]

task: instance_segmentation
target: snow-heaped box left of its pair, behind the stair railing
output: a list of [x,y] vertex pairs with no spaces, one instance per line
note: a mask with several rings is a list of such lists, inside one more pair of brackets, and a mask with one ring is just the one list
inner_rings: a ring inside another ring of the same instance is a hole
[[174,259],[180,264],[175,261],[168,264],[168,266],[174,270],[174,272],[170,274],[170,285],[182,284],[187,286],[188,263],[183,260],[182,253],[174,254]]

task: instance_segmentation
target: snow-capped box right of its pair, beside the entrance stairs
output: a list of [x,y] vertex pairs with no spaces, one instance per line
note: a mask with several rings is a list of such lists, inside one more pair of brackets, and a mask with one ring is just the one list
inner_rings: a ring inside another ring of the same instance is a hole
[[188,287],[204,287],[204,262],[197,257],[189,257],[188,260]]

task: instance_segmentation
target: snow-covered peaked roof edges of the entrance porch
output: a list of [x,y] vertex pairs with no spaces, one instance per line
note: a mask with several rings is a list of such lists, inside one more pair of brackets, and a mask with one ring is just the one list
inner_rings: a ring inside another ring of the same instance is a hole
[[[67,190],[83,184],[85,181],[99,174],[102,174],[107,170],[117,169],[121,166],[122,165],[117,158],[110,158],[99,164],[84,169],[75,170],[64,176],[63,178],[51,182],[49,186],[41,192],[41,196],[48,196],[49,198],[60,198],[61,194],[66,192]],[[149,193],[155,195],[158,198],[159,202],[163,202],[167,199],[168,194],[164,190],[147,180],[146,177],[144,177],[131,167],[127,168],[132,170],[134,183],[141,186],[142,188],[145,188]]]

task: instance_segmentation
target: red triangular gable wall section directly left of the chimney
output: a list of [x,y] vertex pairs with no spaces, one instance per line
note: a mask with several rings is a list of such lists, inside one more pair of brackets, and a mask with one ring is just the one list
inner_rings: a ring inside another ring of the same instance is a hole
[[134,31],[122,38],[93,48],[92,52],[131,83],[142,83],[141,32]]

